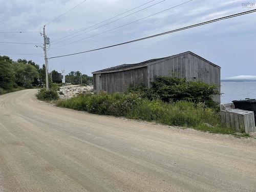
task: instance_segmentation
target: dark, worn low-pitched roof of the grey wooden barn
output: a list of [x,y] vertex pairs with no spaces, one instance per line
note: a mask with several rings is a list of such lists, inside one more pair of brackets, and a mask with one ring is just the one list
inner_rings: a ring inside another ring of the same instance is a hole
[[217,66],[214,63],[204,59],[203,57],[200,57],[199,55],[197,55],[197,54],[195,54],[191,51],[186,51],[184,53],[179,53],[179,54],[168,56],[168,57],[150,59],[150,60],[146,60],[146,61],[142,61],[142,62],[138,62],[138,63],[134,63],[134,64],[123,64],[123,65],[119,65],[119,66],[115,66],[115,67],[111,67],[111,68],[106,68],[106,69],[102,69],[102,70],[99,70],[99,71],[94,71],[94,72],[92,72],[92,74],[113,73],[113,72],[118,72],[118,71],[125,71],[125,70],[141,68],[141,67],[145,67],[145,66],[148,66],[148,65],[153,65],[153,64],[158,63],[158,62],[163,61],[163,60],[169,60],[169,59],[179,57],[179,56],[182,56],[182,55],[186,55],[186,54],[191,54],[191,55],[194,55],[196,57],[199,57],[200,59],[208,62],[210,65],[213,65],[215,67],[220,68],[219,66]]

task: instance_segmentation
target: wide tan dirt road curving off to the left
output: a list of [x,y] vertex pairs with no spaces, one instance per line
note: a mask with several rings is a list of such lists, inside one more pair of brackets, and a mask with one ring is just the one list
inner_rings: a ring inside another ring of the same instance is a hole
[[256,139],[0,96],[0,191],[256,191]]

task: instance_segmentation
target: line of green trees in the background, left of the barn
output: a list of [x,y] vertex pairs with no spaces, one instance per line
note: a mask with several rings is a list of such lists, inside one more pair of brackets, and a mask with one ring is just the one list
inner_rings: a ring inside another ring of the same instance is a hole
[[[71,71],[69,75],[66,75],[66,82],[80,84],[81,78],[83,84],[92,83],[92,77],[81,74],[79,71]],[[53,70],[49,74],[49,81],[61,83],[61,73]],[[32,60],[18,59],[14,61],[8,56],[0,56],[0,89],[12,90],[18,87],[33,88],[44,86],[45,82],[45,65],[40,67]]]

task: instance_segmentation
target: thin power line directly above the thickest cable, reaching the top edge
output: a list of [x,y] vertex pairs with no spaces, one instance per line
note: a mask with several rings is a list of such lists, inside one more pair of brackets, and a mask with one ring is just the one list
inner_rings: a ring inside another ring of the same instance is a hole
[[[110,31],[113,31],[113,30],[116,30],[116,29],[119,29],[119,28],[121,28],[121,27],[124,27],[124,26],[130,25],[130,24],[139,22],[140,20],[143,20],[143,19],[145,19],[145,18],[148,18],[148,17],[154,16],[154,15],[160,14],[160,13],[162,13],[162,12],[164,12],[164,11],[168,11],[168,10],[170,10],[170,9],[179,7],[179,6],[181,6],[181,5],[184,5],[184,4],[186,4],[186,3],[189,3],[189,2],[191,2],[191,1],[193,1],[193,0],[186,1],[186,2],[181,3],[181,4],[179,4],[179,5],[176,5],[176,6],[173,6],[173,7],[168,8],[168,9],[164,9],[164,10],[162,10],[162,11],[159,11],[159,12],[157,12],[157,13],[148,15],[148,16],[146,16],[146,17],[137,19],[137,20],[135,20],[135,21],[133,21],[133,22],[130,22],[130,23],[128,23],[128,24],[124,24],[124,25],[121,25],[121,26],[119,26],[119,27],[116,27],[116,28],[113,28],[113,29],[110,29],[110,30],[107,30],[107,31],[103,31],[103,32],[98,33],[98,34],[96,34],[96,35],[92,35],[92,36],[89,36],[89,37],[86,37],[86,38],[82,38],[82,39],[79,39],[79,40],[76,40],[76,41],[72,41],[72,42],[69,42],[68,44],[64,44],[64,45],[60,45],[60,46],[57,46],[57,47],[53,47],[52,49],[58,48],[58,47],[62,47],[62,46],[66,46],[66,45],[70,45],[70,44],[73,44],[74,42],[78,42],[78,41],[81,41],[81,40],[84,40],[84,39],[88,39],[88,38],[91,38],[91,37],[95,37],[95,36],[97,36],[97,35],[101,35],[101,34],[104,34],[104,33],[107,33],[107,32],[110,32]],[[86,32],[84,32],[84,33],[86,33]]]

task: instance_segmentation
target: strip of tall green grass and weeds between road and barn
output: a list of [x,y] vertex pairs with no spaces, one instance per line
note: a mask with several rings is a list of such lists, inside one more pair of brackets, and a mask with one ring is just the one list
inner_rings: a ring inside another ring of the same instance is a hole
[[146,100],[136,94],[79,95],[71,99],[59,100],[57,106],[99,115],[198,127],[201,130],[205,123],[213,126],[220,123],[220,115],[202,103],[187,101],[166,103],[161,100]]

